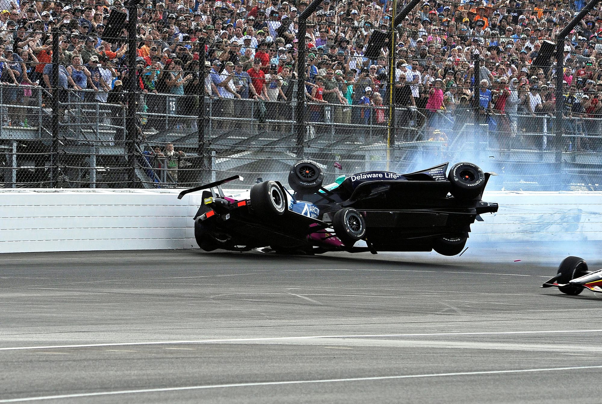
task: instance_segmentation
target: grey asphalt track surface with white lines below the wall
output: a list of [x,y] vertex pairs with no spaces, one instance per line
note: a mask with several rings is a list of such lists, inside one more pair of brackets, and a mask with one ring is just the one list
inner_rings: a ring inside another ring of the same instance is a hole
[[602,298],[523,253],[5,254],[0,403],[597,402]]

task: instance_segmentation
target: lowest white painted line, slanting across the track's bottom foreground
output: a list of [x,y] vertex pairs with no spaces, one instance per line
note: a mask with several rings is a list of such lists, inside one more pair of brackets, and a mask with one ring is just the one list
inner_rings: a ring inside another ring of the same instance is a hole
[[370,378],[291,380],[291,381],[282,381],[282,382],[250,382],[250,383],[213,384],[213,385],[186,386],[186,387],[144,388],[144,389],[140,389],[140,390],[98,391],[96,393],[79,393],[79,394],[61,394],[61,395],[57,395],[57,396],[23,397],[20,399],[0,400],[0,403],[17,403],[17,402],[37,401],[37,400],[72,399],[72,398],[78,398],[78,397],[92,397],[92,396],[114,396],[116,394],[158,393],[161,391],[202,390],[202,389],[208,389],[208,388],[254,387],[254,386],[273,386],[273,385],[309,384],[309,383],[364,382],[364,381],[374,381],[374,380],[441,378],[441,377],[445,377],[445,376],[501,375],[504,373],[554,372],[554,371],[559,371],[559,370],[582,370],[582,369],[602,369],[602,365],[600,365],[600,366],[547,367],[547,368],[541,368],[541,369],[484,370],[482,372],[427,373],[426,375],[374,376],[374,377],[370,377]]

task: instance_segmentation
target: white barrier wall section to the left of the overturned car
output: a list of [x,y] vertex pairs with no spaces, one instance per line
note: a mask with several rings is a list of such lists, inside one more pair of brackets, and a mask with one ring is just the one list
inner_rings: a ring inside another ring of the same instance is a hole
[[0,252],[197,248],[200,193],[141,189],[0,191]]

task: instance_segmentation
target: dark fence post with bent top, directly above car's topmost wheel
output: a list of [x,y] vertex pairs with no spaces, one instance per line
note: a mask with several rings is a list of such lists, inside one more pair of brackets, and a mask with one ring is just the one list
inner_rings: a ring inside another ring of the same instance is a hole
[[301,14],[299,14],[299,49],[297,50],[297,159],[302,159],[305,155],[305,52],[307,42],[305,40],[305,31],[307,29],[307,19],[318,8],[322,0],[313,0]]

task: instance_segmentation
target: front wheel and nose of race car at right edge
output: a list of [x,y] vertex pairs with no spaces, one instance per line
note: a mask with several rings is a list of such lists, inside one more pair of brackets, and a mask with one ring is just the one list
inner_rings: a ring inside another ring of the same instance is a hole
[[541,287],[557,287],[566,295],[579,295],[583,289],[602,293],[602,269],[589,271],[588,264],[579,257],[566,257],[558,267],[558,273]]

